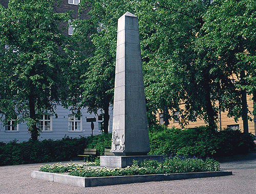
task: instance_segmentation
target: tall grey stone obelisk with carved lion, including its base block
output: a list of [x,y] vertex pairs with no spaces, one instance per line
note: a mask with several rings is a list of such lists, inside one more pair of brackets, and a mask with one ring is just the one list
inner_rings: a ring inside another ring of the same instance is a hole
[[162,160],[150,152],[139,41],[138,18],[126,12],[118,19],[112,149],[100,165],[126,167],[133,160]]

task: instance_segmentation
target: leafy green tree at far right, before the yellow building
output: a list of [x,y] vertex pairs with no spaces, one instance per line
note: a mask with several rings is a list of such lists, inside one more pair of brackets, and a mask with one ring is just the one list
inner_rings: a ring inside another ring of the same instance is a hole
[[234,78],[221,96],[220,108],[235,120],[241,117],[247,133],[246,94],[255,95],[255,11],[254,1],[215,1],[204,15],[205,35],[201,40],[212,49],[212,58],[222,71]]

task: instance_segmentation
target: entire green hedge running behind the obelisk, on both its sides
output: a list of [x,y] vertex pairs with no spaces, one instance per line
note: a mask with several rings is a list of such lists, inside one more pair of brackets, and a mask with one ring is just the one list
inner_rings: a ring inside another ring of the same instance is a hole
[[[247,154],[255,144],[251,134],[226,129],[215,132],[207,127],[194,129],[168,129],[154,126],[150,130],[150,155],[221,157]],[[82,154],[84,148],[96,148],[97,155],[104,147],[111,147],[111,133],[60,140],[0,142],[0,165],[70,161]]]

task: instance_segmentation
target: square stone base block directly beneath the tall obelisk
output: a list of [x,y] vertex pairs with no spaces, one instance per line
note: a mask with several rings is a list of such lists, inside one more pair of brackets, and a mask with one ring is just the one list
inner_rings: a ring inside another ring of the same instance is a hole
[[142,162],[144,160],[163,161],[163,156],[100,156],[100,166],[125,168],[133,165],[133,160]]

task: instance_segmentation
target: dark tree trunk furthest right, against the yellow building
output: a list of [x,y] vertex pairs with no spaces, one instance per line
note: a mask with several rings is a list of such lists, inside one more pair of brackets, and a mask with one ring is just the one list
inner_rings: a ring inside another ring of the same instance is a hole
[[[245,71],[244,70],[240,72],[240,76],[241,76],[242,85],[245,85],[245,80],[244,80]],[[244,132],[249,133],[248,117],[247,117],[248,108],[247,108],[247,99],[246,99],[246,90],[245,89],[242,90],[241,100],[242,100],[242,120],[243,120]]]

